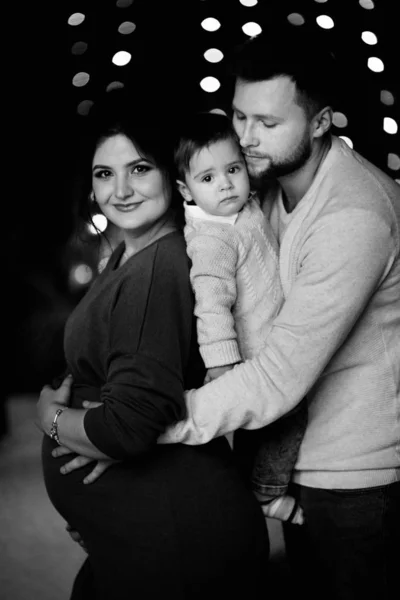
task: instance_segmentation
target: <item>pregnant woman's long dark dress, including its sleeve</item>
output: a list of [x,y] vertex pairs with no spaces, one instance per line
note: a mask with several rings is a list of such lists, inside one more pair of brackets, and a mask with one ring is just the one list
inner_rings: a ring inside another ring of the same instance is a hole
[[43,441],[49,497],[89,552],[72,598],[248,594],[260,580],[266,585],[268,536],[228,442],[156,443],[184,417],[184,390],[204,377],[183,237],[168,234],[116,269],[123,250],[115,250],[65,331],[72,404],[103,402],[87,412],[85,430],[123,462],[84,485],[94,463],[62,476],[71,455],[54,459],[54,443]]

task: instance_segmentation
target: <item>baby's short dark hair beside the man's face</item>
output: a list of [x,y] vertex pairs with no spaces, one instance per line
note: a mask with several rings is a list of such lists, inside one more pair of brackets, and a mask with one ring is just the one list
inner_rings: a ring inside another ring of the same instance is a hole
[[184,180],[190,169],[190,161],[196,152],[211,144],[238,137],[228,117],[219,113],[201,112],[187,118],[183,123],[175,146],[174,160],[179,179]]

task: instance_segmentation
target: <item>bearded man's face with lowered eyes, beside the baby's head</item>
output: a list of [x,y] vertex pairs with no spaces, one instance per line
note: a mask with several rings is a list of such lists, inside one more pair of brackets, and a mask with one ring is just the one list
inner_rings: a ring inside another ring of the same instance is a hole
[[289,77],[238,79],[233,125],[254,184],[293,173],[311,155],[311,123],[296,101],[296,86]]

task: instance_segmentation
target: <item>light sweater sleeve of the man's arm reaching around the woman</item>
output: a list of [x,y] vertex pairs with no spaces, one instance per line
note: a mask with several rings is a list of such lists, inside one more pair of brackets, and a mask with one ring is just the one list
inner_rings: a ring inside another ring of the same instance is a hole
[[261,353],[186,394],[188,418],[160,442],[202,444],[238,428],[257,429],[290,411],[345,342],[396,256],[378,215],[346,210],[317,221]]

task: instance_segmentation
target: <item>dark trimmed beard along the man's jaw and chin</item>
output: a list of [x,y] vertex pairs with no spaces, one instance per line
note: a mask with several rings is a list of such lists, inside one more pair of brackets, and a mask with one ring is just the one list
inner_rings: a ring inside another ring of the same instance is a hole
[[252,172],[251,166],[248,166],[247,168],[252,187],[256,189],[262,188],[263,185],[271,179],[278,179],[279,177],[284,177],[285,175],[290,175],[291,173],[298,171],[308,161],[311,152],[311,141],[307,135],[304,135],[297,148],[295,148],[291,154],[276,162],[271,161],[264,170]]

